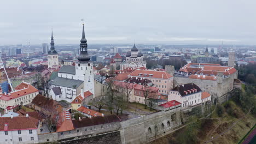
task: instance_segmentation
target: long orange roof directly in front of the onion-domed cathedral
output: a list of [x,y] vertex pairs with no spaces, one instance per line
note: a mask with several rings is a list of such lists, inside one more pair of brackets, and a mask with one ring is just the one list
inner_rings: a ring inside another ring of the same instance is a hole
[[[142,74],[142,75],[139,75]],[[147,74],[146,76],[144,74]],[[149,74],[153,74],[152,76],[149,76]],[[129,76],[139,76],[139,77],[153,77],[158,79],[170,79],[170,74],[166,73],[166,71],[156,71],[156,70],[138,70],[136,69],[133,71]]]

